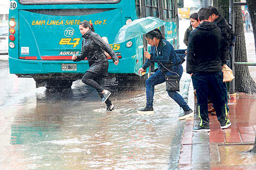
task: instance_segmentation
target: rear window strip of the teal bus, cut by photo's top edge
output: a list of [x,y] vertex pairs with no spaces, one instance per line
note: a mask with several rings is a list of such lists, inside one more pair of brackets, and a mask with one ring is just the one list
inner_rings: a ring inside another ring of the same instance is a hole
[[118,2],[120,0],[93,0],[93,1],[90,1],[90,0],[83,0],[83,1],[79,1],[79,0],[20,0],[20,3],[21,4],[45,4],[45,3],[54,3],[54,4],[62,4],[62,3],[92,3],[92,2]]

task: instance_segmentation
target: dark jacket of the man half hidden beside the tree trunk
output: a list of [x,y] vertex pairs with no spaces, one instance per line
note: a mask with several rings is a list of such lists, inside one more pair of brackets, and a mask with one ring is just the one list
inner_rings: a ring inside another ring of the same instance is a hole
[[221,15],[214,20],[214,23],[221,29],[221,59],[222,65],[224,65],[229,59],[230,28],[227,20]]

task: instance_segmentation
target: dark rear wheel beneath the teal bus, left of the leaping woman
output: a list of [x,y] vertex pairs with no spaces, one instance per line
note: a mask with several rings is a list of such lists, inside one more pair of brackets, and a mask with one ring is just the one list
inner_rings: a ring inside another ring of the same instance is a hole
[[72,86],[72,80],[56,80],[56,79],[48,79],[46,80],[46,89],[69,89]]

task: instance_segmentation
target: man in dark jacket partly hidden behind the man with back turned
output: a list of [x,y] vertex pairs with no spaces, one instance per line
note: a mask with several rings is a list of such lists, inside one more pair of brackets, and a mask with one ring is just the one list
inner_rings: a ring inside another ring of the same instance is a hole
[[[231,34],[232,30],[229,27],[229,24],[227,20],[218,12],[218,10],[215,7],[208,7],[210,9],[210,22],[213,22],[216,24],[218,28],[221,29],[221,59],[222,59],[222,66],[224,64],[227,64],[227,60],[229,60],[229,49],[230,49],[230,43],[231,43]],[[225,111],[225,114],[228,115],[229,107],[228,107],[228,89],[227,84],[224,82],[224,92],[225,92],[225,106],[227,110]]]

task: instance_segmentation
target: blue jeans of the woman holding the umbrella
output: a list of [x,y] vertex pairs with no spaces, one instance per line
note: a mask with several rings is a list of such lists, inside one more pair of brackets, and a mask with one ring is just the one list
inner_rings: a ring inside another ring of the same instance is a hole
[[[170,70],[173,72],[176,72],[180,75],[183,73],[183,68],[180,65],[178,65],[178,69],[176,70],[176,67],[173,70]],[[175,73],[171,73],[171,72],[166,72],[166,75],[174,75]],[[163,74],[163,72],[161,70],[157,70],[153,75],[151,75],[151,77],[149,77],[147,79],[147,81],[145,82],[146,84],[146,95],[147,95],[147,107],[151,108],[153,107],[153,98],[154,98],[154,87],[157,84],[161,84],[164,83],[166,81],[165,75]],[[178,103],[180,105],[180,107],[184,110],[184,111],[188,111],[190,110],[190,107],[187,105],[187,103],[185,102],[185,100],[180,96],[180,94],[178,92],[167,92],[168,95],[174,99],[174,101],[176,103]]]

